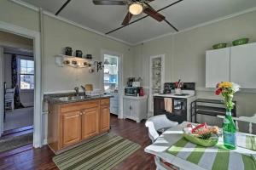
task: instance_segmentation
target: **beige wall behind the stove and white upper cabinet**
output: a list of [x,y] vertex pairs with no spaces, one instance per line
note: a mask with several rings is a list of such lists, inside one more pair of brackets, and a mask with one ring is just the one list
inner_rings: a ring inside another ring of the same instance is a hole
[[[198,97],[218,99],[212,89],[204,88],[205,53],[215,43],[232,42],[239,37],[250,37],[250,42],[256,42],[255,18],[256,11],[137,45],[133,49],[135,60],[140,64],[137,64],[133,74],[143,77],[144,86],[148,87],[150,55],[166,54],[166,82],[174,82],[179,78],[184,82],[196,82]],[[235,99],[238,103],[238,116],[252,116],[256,113],[255,90],[243,90],[236,94]]]

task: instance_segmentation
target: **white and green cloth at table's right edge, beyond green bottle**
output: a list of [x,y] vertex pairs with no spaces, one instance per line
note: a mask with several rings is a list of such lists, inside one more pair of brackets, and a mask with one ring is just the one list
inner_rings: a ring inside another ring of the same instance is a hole
[[256,136],[253,134],[237,133],[236,144],[242,148],[256,150]]

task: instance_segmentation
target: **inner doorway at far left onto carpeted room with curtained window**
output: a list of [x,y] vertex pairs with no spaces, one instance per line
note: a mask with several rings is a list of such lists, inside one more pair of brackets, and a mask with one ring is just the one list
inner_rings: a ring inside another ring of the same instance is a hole
[[[32,42],[32,40],[31,40]],[[34,57],[26,48],[3,47],[3,134],[33,127]]]

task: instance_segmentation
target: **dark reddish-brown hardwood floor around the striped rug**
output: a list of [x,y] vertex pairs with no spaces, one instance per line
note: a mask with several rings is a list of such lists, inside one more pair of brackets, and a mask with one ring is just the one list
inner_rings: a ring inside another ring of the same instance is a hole
[[[154,156],[146,154],[144,148],[150,144],[148,138],[148,129],[145,123],[136,123],[133,121],[119,120],[116,116],[111,116],[111,132],[130,139],[137,144],[141,144],[142,148],[129,156],[125,161],[121,162],[115,170],[153,170]],[[0,169],[8,170],[53,170],[58,169],[52,161],[55,154],[44,146],[39,149],[33,149],[32,144],[20,147],[15,150],[9,150],[0,153]]]

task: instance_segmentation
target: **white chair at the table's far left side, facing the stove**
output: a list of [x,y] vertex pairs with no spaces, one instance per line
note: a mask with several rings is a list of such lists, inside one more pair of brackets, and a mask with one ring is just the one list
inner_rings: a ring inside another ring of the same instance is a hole
[[170,121],[166,115],[158,115],[148,118],[145,125],[148,127],[148,136],[152,143],[154,143],[154,141],[159,137],[159,133],[157,132],[158,130],[175,127],[177,124],[177,122]]

